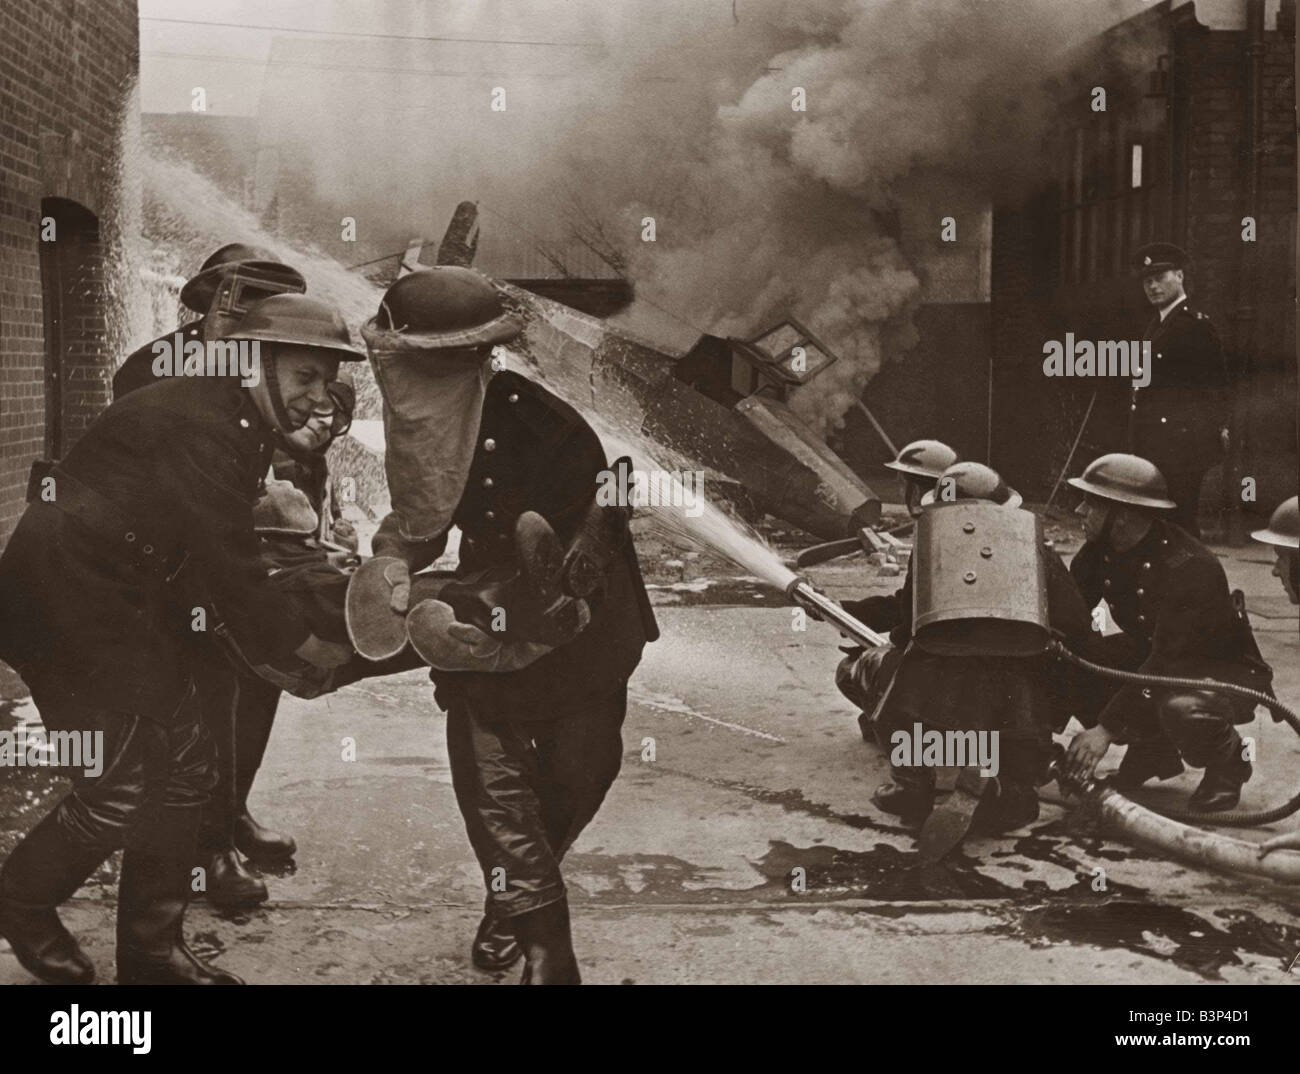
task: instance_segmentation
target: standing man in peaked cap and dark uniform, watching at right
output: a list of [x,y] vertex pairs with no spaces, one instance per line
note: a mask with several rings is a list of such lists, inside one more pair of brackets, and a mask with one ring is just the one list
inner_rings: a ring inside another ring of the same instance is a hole
[[1128,450],[1165,475],[1178,504],[1170,521],[1200,537],[1201,481],[1227,450],[1228,374],[1214,325],[1183,289],[1186,267],[1187,254],[1173,243],[1134,254],[1156,315],[1143,333],[1150,342],[1150,382],[1130,397]]

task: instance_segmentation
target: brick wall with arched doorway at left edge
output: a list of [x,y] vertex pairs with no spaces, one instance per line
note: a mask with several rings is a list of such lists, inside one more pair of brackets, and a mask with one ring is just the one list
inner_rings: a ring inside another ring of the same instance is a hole
[[[138,69],[135,0],[0,4],[0,545],[46,446],[42,200],[75,202],[101,234],[110,229],[122,107]],[[101,251],[82,252],[94,269]],[[65,450],[108,402],[112,368],[101,293],[81,290],[65,308]]]

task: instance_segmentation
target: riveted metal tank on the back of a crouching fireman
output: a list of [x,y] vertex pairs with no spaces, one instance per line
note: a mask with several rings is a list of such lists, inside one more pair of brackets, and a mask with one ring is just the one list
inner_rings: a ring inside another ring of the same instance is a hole
[[1043,520],[957,501],[927,507],[913,546],[913,633],[931,653],[1031,655],[1048,633]]

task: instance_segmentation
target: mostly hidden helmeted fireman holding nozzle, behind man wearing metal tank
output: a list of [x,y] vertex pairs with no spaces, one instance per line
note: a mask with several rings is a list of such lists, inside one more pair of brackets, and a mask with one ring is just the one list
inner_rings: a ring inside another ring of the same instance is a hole
[[[914,439],[892,463],[885,467],[898,475],[898,494],[907,515],[920,516],[920,498],[932,491],[940,475],[957,462],[957,452],[937,439]],[[907,562],[907,576],[902,586],[880,597],[863,597],[861,601],[845,601],[845,611],[868,625],[872,631],[890,631],[893,645],[874,649],[853,646],[845,649],[845,658],[835,670],[835,684],[849,701],[858,706],[858,729],[864,742],[875,742],[876,735],[871,727],[871,714],[876,702],[898,670],[902,658],[902,645],[906,638],[906,624],[911,622],[911,560]]]

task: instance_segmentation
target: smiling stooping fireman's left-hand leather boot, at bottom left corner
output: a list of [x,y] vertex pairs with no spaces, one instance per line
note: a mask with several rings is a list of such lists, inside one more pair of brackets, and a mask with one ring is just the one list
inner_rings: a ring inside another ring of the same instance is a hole
[[0,869],[0,936],[18,963],[48,984],[90,984],[95,965],[56,908],[108,857],[73,843],[57,809],[32,828]]

